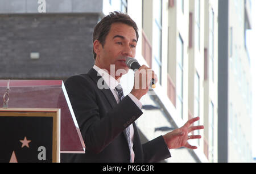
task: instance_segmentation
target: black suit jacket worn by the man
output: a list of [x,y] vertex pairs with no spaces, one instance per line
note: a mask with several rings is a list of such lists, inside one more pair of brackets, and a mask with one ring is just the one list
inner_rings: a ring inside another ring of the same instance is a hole
[[170,151],[162,136],[141,144],[134,123],[142,115],[141,109],[129,96],[117,104],[110,89],[97,87],[100,78],[97,71],[91,69],[88,74],[73,76],[65,82],[86,150],[85,154],[61,154],[61,162],[129,163],[125,129],[130,124],[134,127],[134,162],[158,162],[169,158]]

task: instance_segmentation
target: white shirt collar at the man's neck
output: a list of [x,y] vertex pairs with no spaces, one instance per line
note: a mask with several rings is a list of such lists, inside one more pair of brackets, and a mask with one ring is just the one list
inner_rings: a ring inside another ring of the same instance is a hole
[[113,78],[107,70],[100,69],[100,67],[96,65],[93,66],[93,69],[101,75],[106,84],[109,86],[110,90],[114,90],[114,88],[118,86],[119,82],[115,80],[115,78]]

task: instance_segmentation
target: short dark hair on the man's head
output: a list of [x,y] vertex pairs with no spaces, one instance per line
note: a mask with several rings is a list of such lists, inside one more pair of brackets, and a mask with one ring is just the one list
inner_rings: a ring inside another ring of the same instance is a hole
[[[137,36],[137,40],[139,38],[138,27],[133,19],[130,18],[129,15],[123,14],[118,11],[110,12],[108,16],[105,16],[94,28],[93,32],[93,43],[95,40],[100,41],[101,45],[104,46],[106,36],[109,34],[110,28],[113,23],[124,23],[128,26],[134,28]],[[96,53],[93,49],[94,60],[96,60]]]

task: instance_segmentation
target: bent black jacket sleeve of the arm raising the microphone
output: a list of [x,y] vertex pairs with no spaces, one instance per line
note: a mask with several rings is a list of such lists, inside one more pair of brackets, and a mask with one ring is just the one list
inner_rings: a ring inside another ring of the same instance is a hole
[[97,84],[93,83],[89,78],[74,76],[65,82],[65,87],[86,148],[98,154],[129,126],[127,120],[136,120],[142,111],[126,96],[102,117],[96,94],[100,91],[96,88]]

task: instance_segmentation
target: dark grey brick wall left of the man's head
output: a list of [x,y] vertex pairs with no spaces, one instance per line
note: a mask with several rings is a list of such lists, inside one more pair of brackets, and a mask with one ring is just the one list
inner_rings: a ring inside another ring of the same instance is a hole
[[[65,79],[93,66],[97,14],[0,15],[0,79]],[[40,58],[31,60],[30,53]]]

